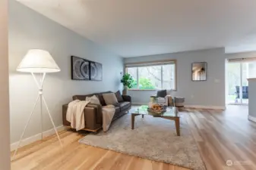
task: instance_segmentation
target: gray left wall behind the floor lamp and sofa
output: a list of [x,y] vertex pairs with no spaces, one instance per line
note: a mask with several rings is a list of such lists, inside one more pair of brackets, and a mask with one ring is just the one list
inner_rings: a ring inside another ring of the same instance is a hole
[[[123,70],[122,57],[106,51],[19,2],[11,0],[9,10],[11,143],[20,137],[36,100],[37,88],[32,76],[16,71],[17,65],[30,48],[49,51],[62,70],[60,73],[47,74],[44,85],[44,94],[55,125],[62,125],[62,104],[71,101],[72,95],[117,91],[122,88],[120,84],[120,72]],[[103,81],[71,80],[71,55],[103,63]],[[43,116],[43,127],[44,131],[52,128],[46,112]],[[39,107],[36,107],[36,113],[27,128],[25,138],[39,134],[40,131],[40,112]]]

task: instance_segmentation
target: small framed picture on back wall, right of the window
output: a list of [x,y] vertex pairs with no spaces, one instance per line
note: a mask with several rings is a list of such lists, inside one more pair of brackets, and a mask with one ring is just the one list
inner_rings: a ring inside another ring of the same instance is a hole
[[207,62],[192,63],[192,81],[207,81]]

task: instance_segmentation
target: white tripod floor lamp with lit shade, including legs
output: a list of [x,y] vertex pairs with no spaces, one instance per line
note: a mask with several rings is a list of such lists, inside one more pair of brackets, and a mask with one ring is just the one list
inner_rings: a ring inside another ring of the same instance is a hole
[[[24,131],[21,134],[21,138],[20,138],[20,141],[19,141],[19,143],[17,145],[17,148],[16,148],[16,150],[14,152],[13,159],[15,158],[17,150],[18,150],[18,148],[21,145],[21,140],[22,140],[22,138],[24,136],[24,132],[27,129],[27,125],[30,122],[30,118],[33,115],[33,112],[34,112],[34,110],[36,108],[36,104],[38,103],[38,101],[40,101],[40,113],[41,113],[41,135],[42,135],[41,138],[43,139],[43,122],[42,122],[43,121],[42,120],[43,104],[46,107],[47,113],[49,115],[49,118],[51,119],[51,122],[52,122],[53,128],[55,130],[55,133],[58,136],[58,131],[57,131],[57,129],[55,127],[55,124],[54,124],[54,122],[52,120],[51,113],[49,112],[49,107],[46,104],[46,99],[45,99],[45,97],[43,97],[43,82],[44,82],[44,80],[46,78],[46,73],[55,73],[55,72],[59,72],[60,71],[58,65],[55,63],[55,60],[53,60],[51,54],[49,54],[48,51],[32,49],[32,50],[27,52],[27,54],[25,55],[25,57],[21,61],[20,65],[17,66],[17,71],[31,73],[32,76],[33,76],[33,79],[36,82],[36,85],[37,85],[37,87],[39,89],[39,93],[37,95],[36,102],[33,105],[33,109],[32,109],[32,111],[30,113],[29,119],[27,120],[27,124],[25,125]],[[40,73],[40,76],[42,76],[40,81],[37,81],[35,73]],[[59,136],[58,136],[58,141],[59,141],[59,143],[62,146],[62,141],[59,138]]]

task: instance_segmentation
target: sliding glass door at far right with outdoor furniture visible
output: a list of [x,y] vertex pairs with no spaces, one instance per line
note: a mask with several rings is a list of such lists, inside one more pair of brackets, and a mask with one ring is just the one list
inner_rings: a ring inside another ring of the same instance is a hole
[[256,76],[256,61],[229,60],[227,64],[227,104],[248,104],[248,77]]

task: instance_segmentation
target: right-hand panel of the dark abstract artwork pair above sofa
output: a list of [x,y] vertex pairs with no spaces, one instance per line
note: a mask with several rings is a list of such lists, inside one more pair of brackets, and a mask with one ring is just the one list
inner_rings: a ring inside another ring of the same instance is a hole
[[90,61],[90,80],[103,80],[103,64]]

